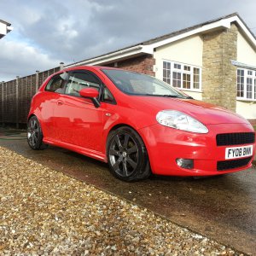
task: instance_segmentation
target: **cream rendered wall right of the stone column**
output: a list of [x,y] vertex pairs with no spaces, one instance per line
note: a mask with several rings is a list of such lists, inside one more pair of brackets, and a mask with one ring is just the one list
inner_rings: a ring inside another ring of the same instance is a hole
[[[243,64],[256,67],[256,51],[248,44],[241,32],[237,35],[237,60]],[[236,113],[246,119],[256,119],[256,102],[236,101]]]

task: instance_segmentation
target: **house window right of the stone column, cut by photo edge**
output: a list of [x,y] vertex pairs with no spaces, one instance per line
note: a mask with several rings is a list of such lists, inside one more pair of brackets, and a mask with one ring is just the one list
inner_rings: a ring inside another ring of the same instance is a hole
[[236,96],[242,100],[256,100],[256,71],[237,68]]

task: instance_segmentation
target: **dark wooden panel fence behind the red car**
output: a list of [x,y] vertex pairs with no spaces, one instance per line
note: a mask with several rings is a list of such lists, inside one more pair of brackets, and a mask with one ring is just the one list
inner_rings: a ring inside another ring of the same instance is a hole
[[23,78],[0,83],[0,123],[26,124],[32,96],[52,73],[58,72],[55,67]]

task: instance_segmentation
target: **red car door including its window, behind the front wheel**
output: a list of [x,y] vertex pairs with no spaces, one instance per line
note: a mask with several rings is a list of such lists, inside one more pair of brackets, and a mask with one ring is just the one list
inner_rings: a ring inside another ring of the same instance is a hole
[[55,105],[55,132],[62,143],[102,152],[102,106],[96,108],[79,90],[93,87],[100,90],[102,81],[89,71],[70,73],[65,92]]

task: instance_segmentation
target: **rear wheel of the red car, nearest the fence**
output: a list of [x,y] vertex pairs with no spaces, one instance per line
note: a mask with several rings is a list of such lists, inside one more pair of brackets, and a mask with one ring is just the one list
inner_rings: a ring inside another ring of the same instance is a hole
[[35,115],[33,115],[27,122],[27,143],[30,148],[40,150],[47,148],[43,143],[43,132],[40,123]]

